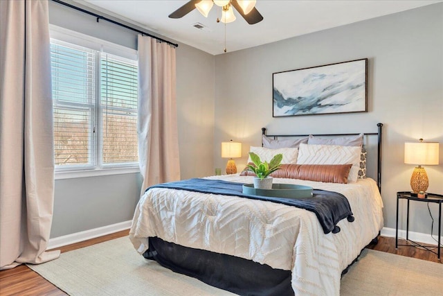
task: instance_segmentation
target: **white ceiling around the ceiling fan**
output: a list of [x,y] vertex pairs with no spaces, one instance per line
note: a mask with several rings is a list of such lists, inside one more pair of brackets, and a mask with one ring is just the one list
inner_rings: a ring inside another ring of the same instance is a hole
[[[186,3],[186,0],[77,1],[142,26],[152,33],[183,42],[213,55],[223,53],[224,24],[216,21],[217,17],[221,15],[219,6],[213,6],[208,18],[201,15],[198,10],[192,10],[181,19],[170,19],[168,15]],[[255,8],[264,19],[257,24],[250,25],[235,11],[237,19],[233,23],[226,24],[226,49],[228,52],[247,49],[441,1],[257,0]],[[194,28],[192,24],[197,22],[206,26],[208,31]]]

